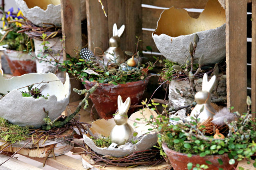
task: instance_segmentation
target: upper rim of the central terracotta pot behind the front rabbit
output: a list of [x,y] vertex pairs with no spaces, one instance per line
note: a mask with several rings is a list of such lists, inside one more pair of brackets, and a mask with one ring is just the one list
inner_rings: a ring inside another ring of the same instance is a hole
[[[108,84],[108,83],[98,83],[98,84],[99,84],[99,86],[108,86],[108,87],[111,87],[111,88],[120,88],[120,87],[123,87],[123,86],[132,86],[132,85],[138,86],[139,84],[144,84],[144,83],[147,84],[149,82],[149,80],[150,80],[150,77],[147,77],[143,80],[138,80],[136,82],[127,82],[125,84],[118,84],[118,85]],[[82,79],[82,82],[86,82],[86,84],[84,84],[84,85],[88,85],[88,86],[94,86],[97,83],[97,82],[90,82],[87,79],[85,81]]]

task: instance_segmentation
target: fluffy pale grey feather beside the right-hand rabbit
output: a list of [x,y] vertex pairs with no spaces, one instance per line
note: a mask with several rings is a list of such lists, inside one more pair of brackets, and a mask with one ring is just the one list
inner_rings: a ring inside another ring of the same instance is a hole
[[225,120],[228,122],[234,121],[236,119],[236,115],[229,112],[229,109],[224,107],[221,110],[219,110],[214,116],[213,116],[213,124],[222,126],[225,124]]

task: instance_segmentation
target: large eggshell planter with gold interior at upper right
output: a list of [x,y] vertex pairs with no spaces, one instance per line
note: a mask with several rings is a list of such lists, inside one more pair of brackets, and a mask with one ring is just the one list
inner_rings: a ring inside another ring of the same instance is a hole
[[217,63],[226,55],[225,22],[225,10],[218,0],[208,0],[199,18],[190,17],[185,9],[171,7],[161,13],[152,37],[166,59],[184,64],[189,43],[197,33],[195,58],[204,54],[204,64]]

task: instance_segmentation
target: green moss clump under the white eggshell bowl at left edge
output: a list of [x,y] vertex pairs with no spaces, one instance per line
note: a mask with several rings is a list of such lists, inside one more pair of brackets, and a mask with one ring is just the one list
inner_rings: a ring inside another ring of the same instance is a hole
[[[27,139],[29,134],[28,127],[20,127],[10,124],[8,120],[0,117],[0,139],[14,144],[17,141]],[[27,137],[26,137],[27,136]]]

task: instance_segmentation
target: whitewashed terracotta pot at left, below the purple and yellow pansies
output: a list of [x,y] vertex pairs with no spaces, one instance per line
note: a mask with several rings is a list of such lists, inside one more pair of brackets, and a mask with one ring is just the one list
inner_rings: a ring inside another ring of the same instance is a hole
[[36,60],[22,51],[5,50],[5,57],[14,76],[36,73]]

